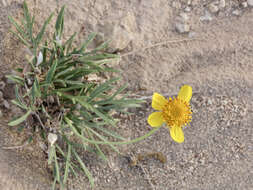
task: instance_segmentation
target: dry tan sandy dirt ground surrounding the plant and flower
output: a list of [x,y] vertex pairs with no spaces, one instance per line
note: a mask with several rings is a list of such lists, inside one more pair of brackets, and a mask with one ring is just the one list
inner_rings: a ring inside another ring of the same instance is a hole
[[[193,121],[184,129],[185,142],[174,143],[169,131],[161,128],[145,141],[122,146],[121,155],[109,152],[108,164],[84,155],[95,189],[253,188],[253,7],[247,1],[225,1],[225,6],[224,1],[215,2],[28,1],[37,25],[66,4],[66,37],[75,31],[80,40],[91,31],[104,31],[106,36],[110,27],[118,27],[111,33],[116,40],[112,49],[122,55],[116,67],[129,83],[129,93],[147,100],[119,125],[126,137],[150,130],[146,119],[153,92],[168,97],[183,84],[193,87]],[[25,50],[8,33],[7,21],[9,14],[19,18],[21,4],[0,1],[1,75],[23,60]],[[52,28],[53,24],[48,34]],[[20,144],[22,138],[17,141],[18,135],[1,119],[0,189],[49,189],[39,142],[2,149]],[[138,154],[147,153],[162,153],[166,162],[154,156],[131,166]],[[68,189],[90,188],[87,178],[79,177]]]

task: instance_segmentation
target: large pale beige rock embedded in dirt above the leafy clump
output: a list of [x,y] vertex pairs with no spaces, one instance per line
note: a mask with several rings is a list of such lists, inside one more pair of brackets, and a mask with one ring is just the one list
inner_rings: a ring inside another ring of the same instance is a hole
[[133,13],[128,13],[119,21],[107,21],[98,25],[98,35],[95,39],[96,44],[109,40],[108,52],[124,50],[133,40],[136,33],[137,24]]

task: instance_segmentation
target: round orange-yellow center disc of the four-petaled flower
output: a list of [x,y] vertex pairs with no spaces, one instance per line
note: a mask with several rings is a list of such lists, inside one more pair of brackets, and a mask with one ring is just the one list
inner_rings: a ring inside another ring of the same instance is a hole
[[187,125],[191,121],[191,106],[179,98],[169,98],[162,108],[162,116],[168,126]]

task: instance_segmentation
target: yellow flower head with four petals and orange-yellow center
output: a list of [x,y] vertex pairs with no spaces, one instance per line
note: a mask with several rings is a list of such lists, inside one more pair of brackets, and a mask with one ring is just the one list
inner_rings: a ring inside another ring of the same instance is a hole
[[182,86],[178,96],[167,100],[162,95],[154,93],[152,98],[152,108],[160,112],[153,112],[148,117],[148,123],[151,127],[160,127],[166,123],[170,129],[170,136],[178,143],[184,142],[184,133],[182,127],[191,122],[192,87]]

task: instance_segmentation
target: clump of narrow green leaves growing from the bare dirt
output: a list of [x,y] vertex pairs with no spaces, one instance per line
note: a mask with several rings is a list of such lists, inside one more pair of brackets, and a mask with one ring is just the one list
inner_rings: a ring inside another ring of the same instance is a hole
[[27,58],[23,67],[16,68],[19,74],[7,75],[16,83],[16,99],[12,103],[24,111],[9,125],[26,123],[26,126],[39,132],[48,144],[53,188],[56,184],[64,188],[70,173],[77,176],[79,170],[94,186],[92,175],[79,155],[80,148],[95,152],[107,160],[100,145],[108,145],[118,151],[115,145],[142,140],[154,131],[126,142],[113,128],[108,128],[116,126],[112,112],[128,113],[127,108],[138,107],[141,102],[122,95],[126,85],[117,87],[115,82],[119,78],[105,82],[89,80],[91,74],[115,71],[105,66],[118,58],[117,55],[102,52],[107,43],[88,50],[87,46],[95,38],[94,33],[81,47],[73,46],[76,33],[63,42],[64,7],[57,16],[52,39],[45,38],[45,30],[53,14],[35,35],[35,18],[29,13],[26,2],[23,7],[24,19],[21,22],[12,17],[9,19],[16,28],[12,33],[30,50],[31,57]]

